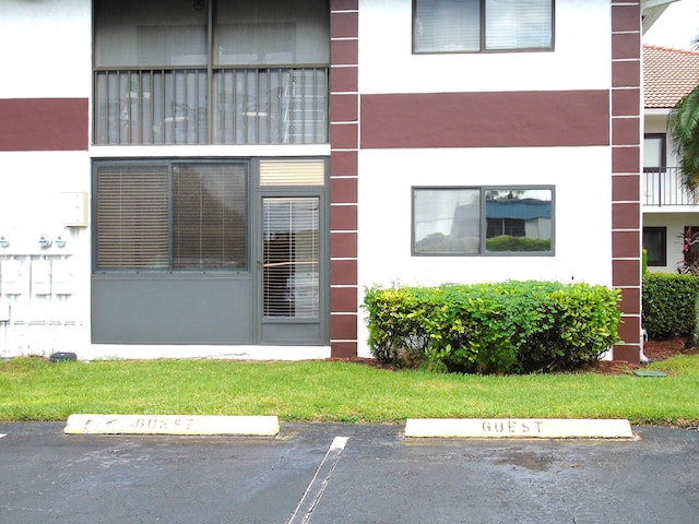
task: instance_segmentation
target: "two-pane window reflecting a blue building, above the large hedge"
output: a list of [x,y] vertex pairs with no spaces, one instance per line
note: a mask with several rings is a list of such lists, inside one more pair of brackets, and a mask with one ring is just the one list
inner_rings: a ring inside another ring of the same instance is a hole
[[413,254],[550,255],[550,187],[413,188]]

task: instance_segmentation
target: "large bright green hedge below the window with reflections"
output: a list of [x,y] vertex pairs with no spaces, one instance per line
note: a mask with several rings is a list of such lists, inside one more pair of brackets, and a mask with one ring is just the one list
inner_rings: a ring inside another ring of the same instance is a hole
[[399,366],[450,372],[576,369],[617,341],[619,293],[552,282],[366,289],[369,346]]

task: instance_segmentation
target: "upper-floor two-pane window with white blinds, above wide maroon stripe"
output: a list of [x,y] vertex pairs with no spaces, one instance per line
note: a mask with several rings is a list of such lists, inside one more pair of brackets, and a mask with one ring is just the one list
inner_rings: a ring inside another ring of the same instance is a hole
[[554,0],[413,0],[414,52],[553,49]]

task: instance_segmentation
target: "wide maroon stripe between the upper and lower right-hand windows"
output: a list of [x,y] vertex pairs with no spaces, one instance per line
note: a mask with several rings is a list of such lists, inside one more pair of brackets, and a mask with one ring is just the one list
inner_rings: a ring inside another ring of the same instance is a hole
[[609,144],[608,91],[363,95],[362,147]]

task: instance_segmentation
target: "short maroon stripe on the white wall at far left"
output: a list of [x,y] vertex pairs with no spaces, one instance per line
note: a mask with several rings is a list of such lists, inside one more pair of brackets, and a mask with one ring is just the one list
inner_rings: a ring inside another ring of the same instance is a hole
[[0,151],[86,151],[86,98],[0,99]]

